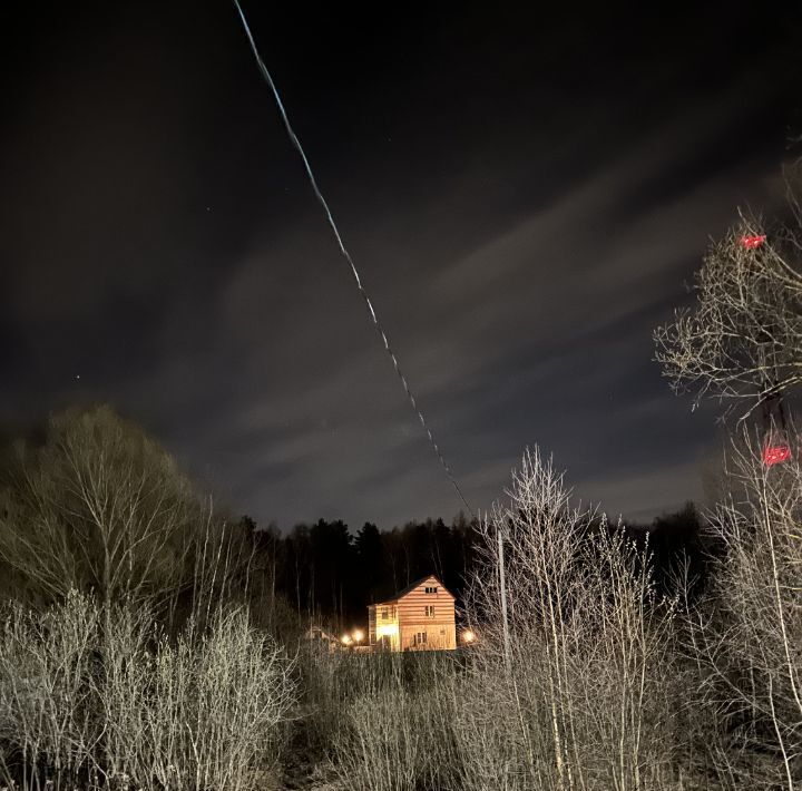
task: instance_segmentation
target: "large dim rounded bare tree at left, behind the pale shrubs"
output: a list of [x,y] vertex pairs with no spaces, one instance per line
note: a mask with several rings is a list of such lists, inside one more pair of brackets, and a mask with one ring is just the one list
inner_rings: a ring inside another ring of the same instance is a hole
[[173,457],[107,407],[52,418],[3,478],[0,560],[46,600],[94,589],[159,606],[193,583],[198,553],[216,553],[211,510]]

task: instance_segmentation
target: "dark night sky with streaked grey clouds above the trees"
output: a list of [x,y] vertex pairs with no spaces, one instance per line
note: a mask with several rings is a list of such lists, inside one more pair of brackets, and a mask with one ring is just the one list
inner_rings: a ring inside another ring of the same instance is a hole
[[[336,6],[244,0],[468,500],[532,443],[616,514],[701,499],[716,411],[651,333],[781,197],[799,3]],[[108,401],[263,524],[457,514],[233,3],[13,13],[0,431]]]

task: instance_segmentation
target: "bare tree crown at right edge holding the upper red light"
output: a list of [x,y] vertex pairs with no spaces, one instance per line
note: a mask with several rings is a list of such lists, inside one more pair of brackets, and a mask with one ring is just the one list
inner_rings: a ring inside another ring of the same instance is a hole
[[[789,185],[791,180],[789,180]],[[656,359],[675,390],[726,400],[742,414],[802,382],[802,213],[767,234],[740,222],[714,243],[695,275],[692,309],[655,333]]]

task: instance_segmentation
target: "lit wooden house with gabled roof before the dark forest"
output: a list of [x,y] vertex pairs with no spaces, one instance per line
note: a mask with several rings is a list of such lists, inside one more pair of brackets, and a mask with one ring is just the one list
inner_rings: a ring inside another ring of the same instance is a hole
[[454,597],[434,575],[418,579],[368,607],[368,641],[374,651],[453,650]]

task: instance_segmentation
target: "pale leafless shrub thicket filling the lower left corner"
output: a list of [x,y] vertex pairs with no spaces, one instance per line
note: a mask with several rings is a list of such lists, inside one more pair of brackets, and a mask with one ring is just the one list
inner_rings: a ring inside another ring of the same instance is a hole
[[291,662],[242,611],[168,642],[147,612],[70,594],[10,607],[2,764],[25,787],[250,789],[277,759]]

